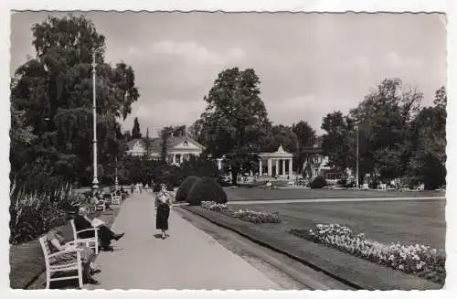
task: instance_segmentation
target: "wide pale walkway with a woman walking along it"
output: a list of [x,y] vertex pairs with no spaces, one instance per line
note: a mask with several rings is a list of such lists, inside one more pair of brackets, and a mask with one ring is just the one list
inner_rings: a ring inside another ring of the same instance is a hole
[[125,236],[96,264],[100,285],[93,289],[279,289],[238,255],[197,230],[172,209],[170,237],[154,237],[154,198],[134,194],[122,203],[113,229]]

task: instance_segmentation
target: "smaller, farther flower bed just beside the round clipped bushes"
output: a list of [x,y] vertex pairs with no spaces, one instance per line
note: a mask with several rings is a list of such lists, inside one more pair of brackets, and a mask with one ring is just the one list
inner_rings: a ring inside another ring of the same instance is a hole
[[267,211],[256,211],[253,209],[239,209],[235,210],[228,208],[225,204],[217,204],[213,201],[202,201],[202,208],[222,213],[224,215],[248,221],[251,223],[280,223],[281,219],[277,213]]

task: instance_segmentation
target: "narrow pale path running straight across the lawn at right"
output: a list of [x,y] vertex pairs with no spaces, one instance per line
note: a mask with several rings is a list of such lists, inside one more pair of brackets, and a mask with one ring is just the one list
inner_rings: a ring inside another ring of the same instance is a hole
[[256,205],[256,204],[291,204],[313,202],[354,202],[354,201],[401,201],[401,200],[443,200],[446,197],[416,197],[416,198],[306,198],[306,199],[264,199],[264,200],[229,200],[229,205]]

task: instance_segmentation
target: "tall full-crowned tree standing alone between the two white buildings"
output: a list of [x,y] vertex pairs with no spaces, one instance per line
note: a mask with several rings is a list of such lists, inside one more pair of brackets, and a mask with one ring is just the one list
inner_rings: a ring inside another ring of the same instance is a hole
[[194,125],[198,140],[214,156],[225,155],[232,183],[241,172],[255,169],[254,153],[267,135],[268,114],[260,99],[260,80],[254,69],[225,69],[218,74],[204,101],[207,109]]

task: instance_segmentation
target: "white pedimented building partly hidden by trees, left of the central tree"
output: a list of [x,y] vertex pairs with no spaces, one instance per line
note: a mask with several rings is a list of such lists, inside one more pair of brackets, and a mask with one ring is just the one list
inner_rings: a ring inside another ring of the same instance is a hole
[[[161,138],[150,138],[150,158],[154,160],[160,159],[162,150]],[[179,166],[185,160],[188,160],[191,155],[201,155],[205,150],[205,146],[197,143],[192,137],[188,135],[170,137],[167,142],[167,162]],[[146,140],[145,138],[133,139],[128,142],[127,155],[143,156],[146,154]]]

